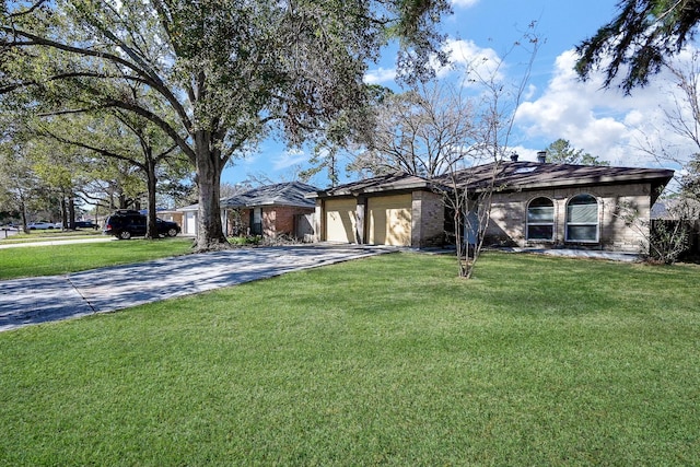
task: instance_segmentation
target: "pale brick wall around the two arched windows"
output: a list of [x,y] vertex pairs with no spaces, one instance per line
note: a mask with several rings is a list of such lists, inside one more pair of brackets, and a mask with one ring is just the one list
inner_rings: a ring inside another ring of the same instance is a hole
[[[570,243],[565,242],[567,202],[574,196],[588,194],[598,200],[599,242]],[[610,185],[587,188],[551,188],[527,190],[518,192],[502,192],[493,195],[491,221],[486,232],[485,244],[513,246],[570,246],[616,252],[639,253],[646,250],[645,237],[649,227],[626,225],[616,211],[620,205],[637,209],[641,219],[650,217],[649,184]],[[532,242],[526,240],[527,205],[538,197],[547,197],[555,203],[555,240],[552,242]]]

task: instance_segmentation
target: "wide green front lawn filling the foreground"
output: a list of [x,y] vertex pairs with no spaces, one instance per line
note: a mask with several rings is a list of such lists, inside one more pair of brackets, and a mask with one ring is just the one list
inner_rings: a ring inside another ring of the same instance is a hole
[[0,335],[2,465],[700,465],[700,269],[383,255]]

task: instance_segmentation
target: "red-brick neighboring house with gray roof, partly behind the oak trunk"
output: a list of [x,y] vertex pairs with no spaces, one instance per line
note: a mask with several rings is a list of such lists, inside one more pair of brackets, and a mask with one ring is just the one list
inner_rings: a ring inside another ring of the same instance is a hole
[[[266,185],[223,198],[221,222],[224,234],[279,235],[310,241],[313,237],[314,201],[305,195],[318,188],[300,182]],[[183,232],[197,233],[197,211],[192,205],[178,209],[184,213]]]

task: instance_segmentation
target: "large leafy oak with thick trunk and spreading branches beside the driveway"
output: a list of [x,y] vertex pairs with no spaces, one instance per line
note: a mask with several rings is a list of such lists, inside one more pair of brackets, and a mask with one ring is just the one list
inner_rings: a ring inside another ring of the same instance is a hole
[[[422,78],[448,10],[446,0],[5,0],[0,93],[74,86],[85,110],[159,126],[196,167],[197,247],[212,249],[226,244],[228,161],[270,130],[298,142],[361,107],[366,67],[392,36],[404,77]],[[175,120],[112,85],[125,81],[158,95]]]

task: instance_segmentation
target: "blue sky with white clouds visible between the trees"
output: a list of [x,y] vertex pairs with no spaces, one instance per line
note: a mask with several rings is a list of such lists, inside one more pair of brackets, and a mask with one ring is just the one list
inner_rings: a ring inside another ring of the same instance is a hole
[[[617,1],[454,0],[454,14],[441,25],[450,36],[452,50],[460,50],[459,57],[504,59],[506,80],[522,79],[525,57],[508,55],[508,50],[532,22],[545,40],[516,112],[511,141],[521,160],[535,160],[538,150],[563,138],[612,165],[676,168],[650,155],[661,144],[654,135],[662,128],[663,108],[669,102],[664,77],[625,96],[616,89],[602,90],[600,77],[582,83],[572,71],[575,46],[614,17]],[[380,63],[371,65],[366,81],[395,86],[394,58],[387,51]],[[290,180],[307,166],[307,152],[265,141],[249,157],[234,161],[222,182],[236,184],[250,175]],[[318,187],[328,185],[325,173],[311,182]]]

